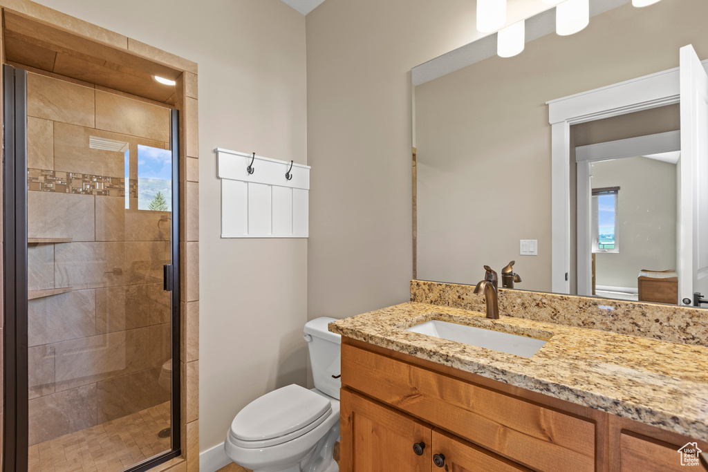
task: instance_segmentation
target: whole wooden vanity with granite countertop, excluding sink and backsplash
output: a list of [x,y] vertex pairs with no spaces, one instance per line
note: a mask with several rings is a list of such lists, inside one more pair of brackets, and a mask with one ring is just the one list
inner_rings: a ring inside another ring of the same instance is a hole
[[[708,451],[706,347],[503,315],[411,302],[331,323],[342,470],[671,471],[685,444]],[[431,320],[547,342],[522,357],[406,330]]]

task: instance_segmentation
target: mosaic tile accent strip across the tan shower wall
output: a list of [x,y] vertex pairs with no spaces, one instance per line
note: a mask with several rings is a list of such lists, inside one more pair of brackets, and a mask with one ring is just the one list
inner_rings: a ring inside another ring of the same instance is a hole
[[[125,178],[30,168],[27,187],[35,192],[74,193],[100,197],[125,197]],[[137,179],[128,182],[130,198],[137,198]]]

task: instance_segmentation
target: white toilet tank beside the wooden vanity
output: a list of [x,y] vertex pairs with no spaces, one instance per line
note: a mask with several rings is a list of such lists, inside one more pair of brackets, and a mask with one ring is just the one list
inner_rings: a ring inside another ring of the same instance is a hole
[[[332,321],[337,320],[336,318],[323,317],[308,321],[304,327],[304,338],[309,350],[315,388],[338,399],[339,388],[342,386],[341,379],[339,379],[342,337],[327,329],[327,325]],[[337,378],[334,379],[333,376]]]

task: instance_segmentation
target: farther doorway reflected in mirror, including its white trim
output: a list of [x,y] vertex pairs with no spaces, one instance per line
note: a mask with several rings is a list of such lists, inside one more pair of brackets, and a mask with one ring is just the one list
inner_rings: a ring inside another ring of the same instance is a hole
[[678,302],[680,132],[576,148],[578,293]]

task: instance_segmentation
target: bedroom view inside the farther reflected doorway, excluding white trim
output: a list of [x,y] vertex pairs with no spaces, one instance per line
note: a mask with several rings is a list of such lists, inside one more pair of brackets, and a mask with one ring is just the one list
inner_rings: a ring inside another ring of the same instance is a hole
[[590,165],[593,294],[598,297],[661,303],[678,299],[676,161],[663,157]]

